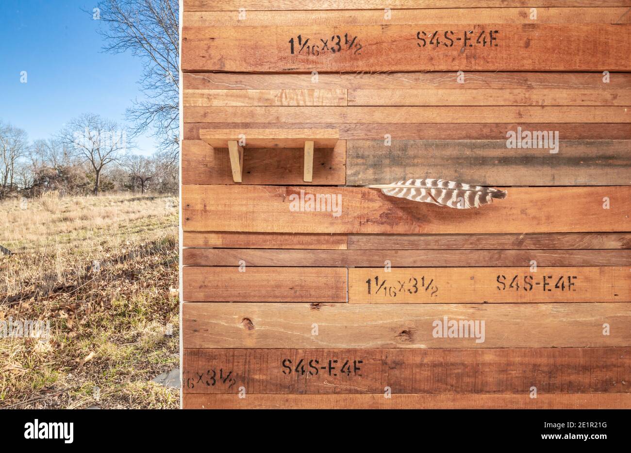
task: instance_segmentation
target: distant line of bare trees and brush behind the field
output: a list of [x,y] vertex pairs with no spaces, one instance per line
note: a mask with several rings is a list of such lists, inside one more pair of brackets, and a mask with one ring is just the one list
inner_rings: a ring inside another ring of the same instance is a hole
[[82,115],[54,138],[33,142],[23,129],[0,122],[0,200],[48,191],[177,193],[179,169],[172,154],[128,150],[126,132],[98,115]]

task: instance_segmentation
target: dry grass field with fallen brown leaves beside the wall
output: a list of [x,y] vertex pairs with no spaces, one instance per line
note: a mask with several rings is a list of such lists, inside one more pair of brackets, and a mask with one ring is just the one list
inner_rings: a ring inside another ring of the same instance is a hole
[[0,337],[0,408],[179,407],[177,197],[9,199],[0,245],[0,326],[50,321]]

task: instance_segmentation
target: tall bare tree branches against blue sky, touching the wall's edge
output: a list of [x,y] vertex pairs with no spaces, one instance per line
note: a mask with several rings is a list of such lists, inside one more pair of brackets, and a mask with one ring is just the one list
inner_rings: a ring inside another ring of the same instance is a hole
[[127,109],[136,127],[133,136],[150,127],[160,149],[177,161],[179,141],[179,4],[178,0],[102,0],[88,11],[107,23],[100,33],[103,49],[120,53],[130,50],[143,59],[140,80],[146,95]]

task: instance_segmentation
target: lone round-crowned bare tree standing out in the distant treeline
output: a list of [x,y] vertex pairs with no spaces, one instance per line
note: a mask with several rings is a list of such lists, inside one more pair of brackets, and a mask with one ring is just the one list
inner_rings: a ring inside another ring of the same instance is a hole
[[95,195],[103,167],[117,162],[127,147],[127,133],[115,122],[95,114],[83,114],[68,122],[57,138],[91,168]]

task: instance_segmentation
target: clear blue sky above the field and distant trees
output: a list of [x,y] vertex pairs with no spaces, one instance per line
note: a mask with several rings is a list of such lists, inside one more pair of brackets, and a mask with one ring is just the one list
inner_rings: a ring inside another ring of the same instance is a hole
[[[66,121],[93,112],[126,124],[124,112],[141,100],[142,66],[131,54],[102,52],[98,26],[82,9],[97,1],[0,1],[0,121],[47,139]],[[27,83],[20,83],[27,71]],[[153,138],[136,140],[134,153],[155,151]]]

